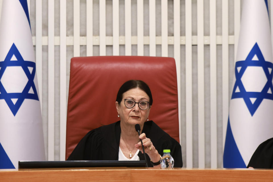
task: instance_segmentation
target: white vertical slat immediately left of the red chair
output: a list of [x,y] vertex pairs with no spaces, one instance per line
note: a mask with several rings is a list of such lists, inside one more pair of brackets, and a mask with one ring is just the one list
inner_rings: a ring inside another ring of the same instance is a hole
[[60,1],[60,160],[65,160],[66,111],[66,1]]

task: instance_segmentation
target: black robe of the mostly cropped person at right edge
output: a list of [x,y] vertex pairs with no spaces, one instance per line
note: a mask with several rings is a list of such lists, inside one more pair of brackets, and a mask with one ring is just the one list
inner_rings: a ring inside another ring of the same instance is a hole
[[247,167],[273,169],[273,138],[262,142],[258,146]]

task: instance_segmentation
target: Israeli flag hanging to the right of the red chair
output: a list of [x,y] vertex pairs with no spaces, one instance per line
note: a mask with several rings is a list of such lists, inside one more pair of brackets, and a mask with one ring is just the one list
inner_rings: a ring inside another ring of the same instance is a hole
[[224,148],[225,168],[245,168],[273,137],[272,46],[267,1],[243,3]]

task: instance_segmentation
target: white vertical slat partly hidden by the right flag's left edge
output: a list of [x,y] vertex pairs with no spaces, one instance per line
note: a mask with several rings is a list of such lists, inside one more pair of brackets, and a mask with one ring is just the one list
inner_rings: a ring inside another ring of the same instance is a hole
[[240,1],[234,0],[234,63],[237,56],[237,45],[240,33],[240,20],[241,20],[241,4]]

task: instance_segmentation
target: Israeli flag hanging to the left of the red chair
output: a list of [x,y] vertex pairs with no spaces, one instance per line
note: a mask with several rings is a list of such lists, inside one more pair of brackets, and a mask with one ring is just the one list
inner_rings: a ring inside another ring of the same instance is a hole
[[36,64],[26,0],[3,0],[0,22],[0,169],[45,160]]

